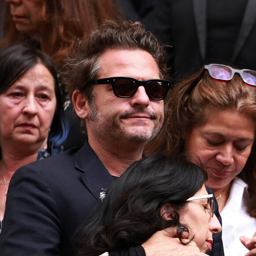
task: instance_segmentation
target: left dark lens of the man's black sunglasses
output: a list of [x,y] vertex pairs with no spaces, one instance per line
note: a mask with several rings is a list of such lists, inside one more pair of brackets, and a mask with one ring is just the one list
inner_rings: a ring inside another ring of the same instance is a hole
[[115,92],[120,97],[130,97],[135,94],[136,83],[130,79],[118,79],[115,82]]

